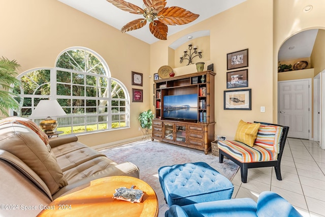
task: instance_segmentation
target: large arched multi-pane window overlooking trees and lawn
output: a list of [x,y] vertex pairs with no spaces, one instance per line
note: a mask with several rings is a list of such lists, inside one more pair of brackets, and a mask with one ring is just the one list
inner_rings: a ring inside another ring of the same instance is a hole
[[[15,87],[21,99],[16,115],[28,117],[40,100],[55,99],[67,116],[58,117],[65,134],[129,127],[129,96],[125,86],[110,77],[105,61],[86,48],[70,48],[55,68],[22,73]],[[35,122],[39,122],[35,120]]]

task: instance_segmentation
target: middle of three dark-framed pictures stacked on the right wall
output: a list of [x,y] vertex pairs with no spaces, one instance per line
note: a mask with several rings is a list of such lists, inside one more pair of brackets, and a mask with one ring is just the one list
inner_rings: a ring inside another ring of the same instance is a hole
[[227,72],[227,88],[248,87],[248,69]]

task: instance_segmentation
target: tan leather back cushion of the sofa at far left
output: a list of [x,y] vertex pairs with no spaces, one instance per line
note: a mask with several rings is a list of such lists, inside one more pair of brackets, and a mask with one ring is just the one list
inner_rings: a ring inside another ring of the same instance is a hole
[[14,154],[46,183],[51,194],[68,184],[49,145],[32,130],[15,122],[0,126],[0,149]]

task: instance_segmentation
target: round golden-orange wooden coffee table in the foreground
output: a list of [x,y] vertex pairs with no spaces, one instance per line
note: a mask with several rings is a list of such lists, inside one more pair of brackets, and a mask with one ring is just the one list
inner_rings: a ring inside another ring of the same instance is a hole
[[[120,187],[143,191],[140,203],[113,199]],[[52,201],[38,216],[157,216],[156,193],[145,181],[130,176],[111,176],[91,181]]]

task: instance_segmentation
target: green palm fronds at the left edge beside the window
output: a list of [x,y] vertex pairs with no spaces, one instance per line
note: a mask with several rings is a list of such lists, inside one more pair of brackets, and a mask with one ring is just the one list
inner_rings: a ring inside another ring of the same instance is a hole
[[16,60],[0,57],[0,111],[7,117],[9,109],[19,109],[19,103],[15,100],[15,97],[19,96],[12,92],[13,87],[20,84],[16,78],[18,75],[16,70],[19,67]]

